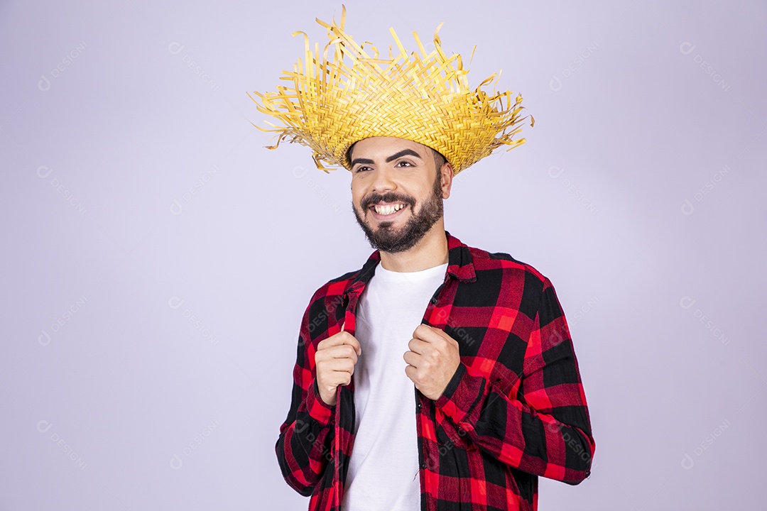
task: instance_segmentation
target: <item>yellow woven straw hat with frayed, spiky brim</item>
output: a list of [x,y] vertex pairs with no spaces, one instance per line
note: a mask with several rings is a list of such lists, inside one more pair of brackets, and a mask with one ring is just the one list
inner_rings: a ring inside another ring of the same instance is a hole
[[[328,29],[329,41],[320,53],[319,45],[311,50],[308,35],[303,34],[305,54],[293,71],[283,71],[287,85],[276,92],[251,97],[262,113],[281,125],[269,123],[279,143],[298,142],[311,147],[318,169],[341,165],[350,169],[347,149],[370,136],[396,136],[410,139],[440,152],[457,174],[499,146],[508,149],[525,142],[514,139],[527,117],[520,118],[522,96],[512,91],[486,93],[482,87],[498,80],[497,74],[469,89],[459,54],[447,57],[437,33],[434,51],[426,54],[418,34],[413,32],[420,54],[408,52],[393,28],[390,32],[397,54],[380,57],[370,43],[357,44],[344,32],[346,8],[341,24],[317,22]],[[473,52],[472,52],[473,54]],[[260,101],[259,101],[260,100]],[[530,126],[535,120],[530,116]]]

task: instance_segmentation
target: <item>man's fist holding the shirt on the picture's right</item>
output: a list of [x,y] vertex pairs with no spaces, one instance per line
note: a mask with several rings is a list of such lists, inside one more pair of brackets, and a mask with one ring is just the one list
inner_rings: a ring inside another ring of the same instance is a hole
[[403,355],[408,364],[405,374],[421,394],[436,401],[461,363],[458,342],[443,330],[422,323],[407,347],[410,351]]

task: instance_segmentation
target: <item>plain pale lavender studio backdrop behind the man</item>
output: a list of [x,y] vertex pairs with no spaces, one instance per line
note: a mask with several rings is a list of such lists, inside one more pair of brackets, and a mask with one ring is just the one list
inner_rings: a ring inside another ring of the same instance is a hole
[[[350,175],[246,93],[341,2],[0,4],[0,509],[306,509],[275,457],[298,326],[372,251]],[[597,450],[539,509],[757,509],[767,436],[763,2],[357,2],[439,31],[527,143],[446,228],[555,285]]]

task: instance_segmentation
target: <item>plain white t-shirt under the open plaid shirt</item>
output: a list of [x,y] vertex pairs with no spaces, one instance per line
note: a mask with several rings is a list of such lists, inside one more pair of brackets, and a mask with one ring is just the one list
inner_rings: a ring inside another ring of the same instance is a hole
[[360,296],[354,336],[362,355],[354,366],[356,435],[344,511],[420,509],[416,391],[402,357],[446,270],[440,264],[397,272],[378,264]]

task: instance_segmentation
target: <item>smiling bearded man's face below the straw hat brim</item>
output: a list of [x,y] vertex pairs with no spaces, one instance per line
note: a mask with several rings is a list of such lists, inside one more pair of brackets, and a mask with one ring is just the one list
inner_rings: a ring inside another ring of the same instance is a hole
[[406,139],[363,139],[351,152],[351,202],[370,245],[407,251],[443,216],[453,169],[436,169],[432,149]]

